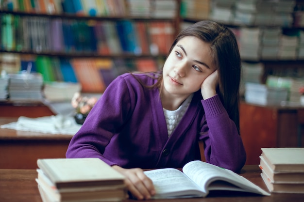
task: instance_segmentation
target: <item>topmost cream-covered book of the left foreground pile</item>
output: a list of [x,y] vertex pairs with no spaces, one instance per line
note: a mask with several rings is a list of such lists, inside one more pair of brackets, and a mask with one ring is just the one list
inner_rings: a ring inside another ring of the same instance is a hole
[[58,189],[124,184],[124,176],[99,158],[38,159],[37,165]]

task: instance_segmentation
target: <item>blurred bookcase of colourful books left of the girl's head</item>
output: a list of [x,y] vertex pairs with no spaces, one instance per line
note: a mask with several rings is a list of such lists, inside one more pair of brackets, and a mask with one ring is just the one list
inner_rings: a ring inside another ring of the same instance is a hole
[[178,0],[1,1],[0,69],[31,63],[45,82],[102,93],[122,73],[162,67],[178,7]]

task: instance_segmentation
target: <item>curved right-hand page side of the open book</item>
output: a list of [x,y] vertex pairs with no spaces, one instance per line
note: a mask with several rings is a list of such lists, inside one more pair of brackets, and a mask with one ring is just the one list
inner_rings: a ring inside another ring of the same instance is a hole
[[183,172],[196,184],[206,190],[248,191],[269,195],[269,193],[259,186],[254,185],[252,182],[235,172],[203,161],[192,161],[187,163],[183,168]]

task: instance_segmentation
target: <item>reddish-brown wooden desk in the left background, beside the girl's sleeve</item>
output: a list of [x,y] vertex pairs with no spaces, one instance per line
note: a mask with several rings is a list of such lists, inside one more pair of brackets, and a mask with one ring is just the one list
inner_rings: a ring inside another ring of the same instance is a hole
[[[0,125],[15,121],[0,117]],[[64,158],[71,138],[0,128],[0,169],[36,169],[38,158]]]

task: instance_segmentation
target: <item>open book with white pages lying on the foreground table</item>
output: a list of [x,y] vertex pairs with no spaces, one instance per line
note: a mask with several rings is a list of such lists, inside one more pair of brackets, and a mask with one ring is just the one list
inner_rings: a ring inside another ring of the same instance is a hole
[[244,191],[269,196],[259,186],[233,171],[205,163],[191,161],[178,169],[145,171],[156,189],[155,199],[206,197],[211,190]]

